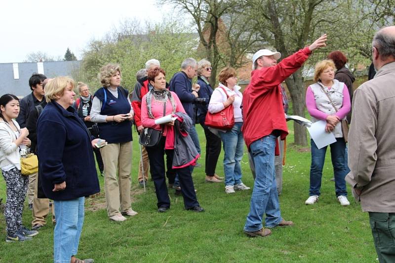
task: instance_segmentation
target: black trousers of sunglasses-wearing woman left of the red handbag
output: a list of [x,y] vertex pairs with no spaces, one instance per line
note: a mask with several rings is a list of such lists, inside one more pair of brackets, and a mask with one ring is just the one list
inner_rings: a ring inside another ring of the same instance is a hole
[[208,127],[201,124],[204,135],[206,136],[206,168],[205,172],[208,176],[214,176],[217,167],[218,157],[221,153],[221,138],[208,130]]

